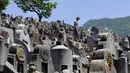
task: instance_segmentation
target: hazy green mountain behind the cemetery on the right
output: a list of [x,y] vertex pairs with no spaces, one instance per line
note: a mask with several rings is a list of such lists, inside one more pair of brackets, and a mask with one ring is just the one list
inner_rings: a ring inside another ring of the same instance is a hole
[[115,19],[93,19],[87,21],[82,27],[88,28],[91,26],[95,26],[99,28],[99,30],[107,27],[121,36],[126,36],[127,34],[130,34],[130,16]]

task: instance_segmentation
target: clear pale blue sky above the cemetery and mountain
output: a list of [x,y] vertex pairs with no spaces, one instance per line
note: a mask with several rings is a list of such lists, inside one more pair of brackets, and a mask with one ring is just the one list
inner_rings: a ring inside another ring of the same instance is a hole
[[[53,10],[50,18],[43,21],[64,20],[73,25],[76,17],[80,17],[79,26],[91,19],[117,18],[130,16],[130,0],[50,0],[57,2],[57,8]],[[11,4],[5,10],[7,14],[21,15],[24,17],[38,18],[36,13],[23,13],[11,0]]]

